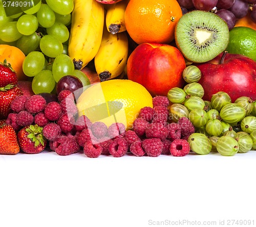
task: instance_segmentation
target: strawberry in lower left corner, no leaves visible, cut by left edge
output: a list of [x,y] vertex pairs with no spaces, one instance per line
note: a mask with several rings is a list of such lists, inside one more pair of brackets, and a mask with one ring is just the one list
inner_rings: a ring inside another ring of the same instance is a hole
[[19,146],[13,127],[5,123],[0,124],[0,154],[17,154],[18,152]]

